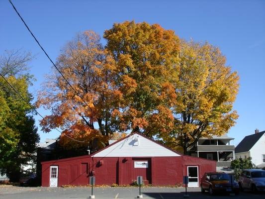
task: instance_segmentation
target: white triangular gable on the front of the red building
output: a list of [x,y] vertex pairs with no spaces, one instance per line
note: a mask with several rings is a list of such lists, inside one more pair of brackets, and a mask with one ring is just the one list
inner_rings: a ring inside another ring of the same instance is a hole
[[158,144],[140,134],[128,135],[91,157],[174,157],[177,152]]

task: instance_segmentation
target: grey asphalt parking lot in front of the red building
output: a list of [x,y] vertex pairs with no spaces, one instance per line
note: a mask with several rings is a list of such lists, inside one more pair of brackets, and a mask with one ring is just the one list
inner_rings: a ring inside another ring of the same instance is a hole
[[[184,188],[142,188],[144,199],[183,199]],[[91,188],[43,188],[43,187],[16,187],[0,186],[0,199],[88,199]],[[139,189],[129,188],[94,188],[95,199],[136,199]],[[251,192],[240,193],[239,196],[201,194],[199,188],[188,189],[189,199],[261,199],[265,193],[253,194]]]

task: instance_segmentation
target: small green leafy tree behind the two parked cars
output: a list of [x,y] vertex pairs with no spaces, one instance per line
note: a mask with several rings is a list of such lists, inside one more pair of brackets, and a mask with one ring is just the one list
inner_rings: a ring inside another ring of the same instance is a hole
[[255,164],[252,163],[251,157],[248,157],[246,159],[235,159],[231,162],[231,168],[235,170],[235,179],[238,180],[242,169],[253,169],[255,167]]

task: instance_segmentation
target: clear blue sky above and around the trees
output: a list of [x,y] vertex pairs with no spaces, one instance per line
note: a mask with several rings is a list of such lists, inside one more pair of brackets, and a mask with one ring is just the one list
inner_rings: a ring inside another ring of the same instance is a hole
[[[237,124],[228,135],[237,145],[255,129],[265,130],[265,0],[12,0],[53,61],[77,32],[103,35],[113,23],[125,20],[159,23],[183,39],[208,41],[220,47],[227,65],[240,76],[234,109]],[[104,43],[104,41],[102,41]],[[0,0],[0,54],[23,48],[36,58],[30,63],[37,81],[36,97],[51,63],[37,46],[8,0]],[[46,111],[39,109],[45,115]],[[36,122],[40,119],[35,117]],[[40,131],[41,141],[56,131]]]

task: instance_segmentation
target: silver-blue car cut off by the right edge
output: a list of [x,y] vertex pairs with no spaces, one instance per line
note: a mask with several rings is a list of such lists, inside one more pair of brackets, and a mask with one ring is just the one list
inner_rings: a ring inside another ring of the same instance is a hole
[[265,191],[265,171],[262,169],[243,170],[238,184],[242,191],[244,189],[250,189],[253,192]]

